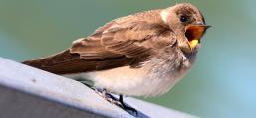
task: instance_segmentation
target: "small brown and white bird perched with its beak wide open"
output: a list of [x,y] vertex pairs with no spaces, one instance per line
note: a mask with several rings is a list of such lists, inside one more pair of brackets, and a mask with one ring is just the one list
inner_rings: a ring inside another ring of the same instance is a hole
[[114,19],[55,55],[22,63],[64,76],[80,76],[109,93],[159,96],[194,64],[209,28],[191,3]]

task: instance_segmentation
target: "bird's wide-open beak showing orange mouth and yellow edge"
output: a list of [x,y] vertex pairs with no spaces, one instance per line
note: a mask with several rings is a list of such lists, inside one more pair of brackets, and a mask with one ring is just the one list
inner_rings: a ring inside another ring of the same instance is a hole
[[202,38],[203,34],[210,27],[211,26],[201,23],[186,26],[185,36],[189,42],[190,50],[196,48],[196,46],[200,43],[200,39]]

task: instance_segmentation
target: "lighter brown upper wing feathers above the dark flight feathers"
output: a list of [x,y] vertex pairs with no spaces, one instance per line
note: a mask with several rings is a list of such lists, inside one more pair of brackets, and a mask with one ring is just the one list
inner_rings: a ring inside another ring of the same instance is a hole
[[70,51],[80,54],[81,59],[141,57],[148,55],[152,48],[146,43],[166,30],[159,24],[143,21],[123,24],[113,22],[109,28],[97,30],[96,35],[75,41]]

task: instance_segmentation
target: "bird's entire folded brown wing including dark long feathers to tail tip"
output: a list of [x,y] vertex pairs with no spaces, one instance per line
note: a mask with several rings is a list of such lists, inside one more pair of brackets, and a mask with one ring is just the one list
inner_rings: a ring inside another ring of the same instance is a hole
[[67,51],[24,63],[57,74],[139,65],[157,48],[173,44],[173,36],[168,28],[160,24],[113,21],[93,35],[75,41]]

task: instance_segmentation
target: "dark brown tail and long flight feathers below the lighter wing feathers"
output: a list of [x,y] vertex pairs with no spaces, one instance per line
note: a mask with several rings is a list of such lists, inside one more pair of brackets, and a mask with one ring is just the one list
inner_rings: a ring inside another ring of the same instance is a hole
[[22,63],[55,74],[74,74],[128,65],[132,62],[125,56],[113,59],[80,59],[79,54],[65,50],[59,54],[43,58],[23,61]]

